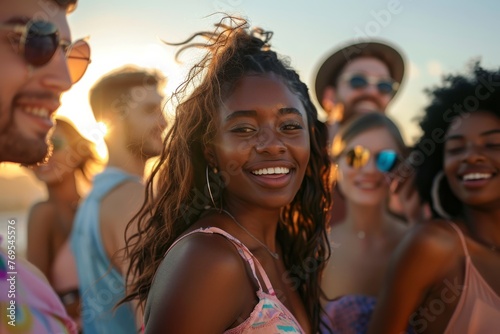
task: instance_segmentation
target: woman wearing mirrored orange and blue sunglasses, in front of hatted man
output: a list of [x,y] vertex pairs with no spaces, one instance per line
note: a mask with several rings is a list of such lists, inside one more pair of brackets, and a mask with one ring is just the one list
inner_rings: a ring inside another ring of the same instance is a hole
[[381,113],[355,118],[334,138],[346,216],[329,233],[332,254],[322,279],[333,333],[365,333],[389,256],[408,228],[388,210],[390,182],[405,152],[397,126]]

